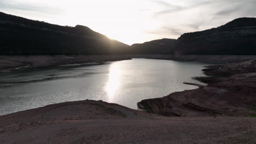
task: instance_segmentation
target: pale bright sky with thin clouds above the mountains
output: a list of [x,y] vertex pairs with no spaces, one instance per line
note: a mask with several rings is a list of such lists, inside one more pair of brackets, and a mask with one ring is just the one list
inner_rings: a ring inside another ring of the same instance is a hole
[[88,26],[125,44],[171,38],[256,17],[256,0],[0,0],[0,11],[62,26]]

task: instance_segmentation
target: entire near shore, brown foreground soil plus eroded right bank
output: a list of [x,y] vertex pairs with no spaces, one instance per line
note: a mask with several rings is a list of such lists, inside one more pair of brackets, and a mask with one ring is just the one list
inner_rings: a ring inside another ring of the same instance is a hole
[[[211,75],[229,72],[230,76],[200,77],[207,79],[207,86],[143,100],[140,104],[146,111],[101,100],[84,100],[0,116],[0,142],[253,143],[256,111],[248,110],[248,106],[255,104],[252,101],[255,97],[250,97],[256,91],[254,65],[256,60],[213,65],[204,71]],[[231,94],[233,98],[241,96],[242,100],[221,99]],[[213,109],[216,107],[224,109]]]

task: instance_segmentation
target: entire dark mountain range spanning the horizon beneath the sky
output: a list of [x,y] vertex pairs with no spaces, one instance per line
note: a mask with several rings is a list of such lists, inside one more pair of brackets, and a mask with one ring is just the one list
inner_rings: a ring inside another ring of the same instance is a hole
[[240,17],[177,40],[158,39],[131,46],[89,27],[59,26],[0,12],[0,55],[256,55],[256,18]]

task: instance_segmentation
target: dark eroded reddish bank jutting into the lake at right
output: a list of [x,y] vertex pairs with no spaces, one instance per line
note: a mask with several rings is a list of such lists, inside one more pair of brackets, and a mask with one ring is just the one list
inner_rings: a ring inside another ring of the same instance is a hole
[[213,77],[196,79],[207,86],[142,100],[138,107],[164,116],[256,116],[256,60],[203,71]]

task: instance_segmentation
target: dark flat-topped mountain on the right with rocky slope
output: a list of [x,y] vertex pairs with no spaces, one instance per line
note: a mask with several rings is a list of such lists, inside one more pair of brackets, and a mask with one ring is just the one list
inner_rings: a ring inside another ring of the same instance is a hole
[[206,31],[185,33],[174,46],[176,53],[256,55],[256,18],[239,18]]

